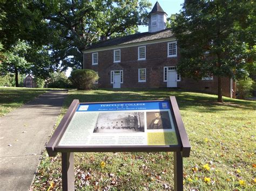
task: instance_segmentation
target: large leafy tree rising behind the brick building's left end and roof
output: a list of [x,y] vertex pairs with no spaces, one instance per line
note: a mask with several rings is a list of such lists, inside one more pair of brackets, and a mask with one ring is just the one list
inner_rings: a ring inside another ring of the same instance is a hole
[[137,32],[137,26],[146,23],[146,8],[150,5],[145,0],[72,0],[42,1],[38,8],[52,33],[51,56],[65,69],[82,68],[83,49],[100,38]]

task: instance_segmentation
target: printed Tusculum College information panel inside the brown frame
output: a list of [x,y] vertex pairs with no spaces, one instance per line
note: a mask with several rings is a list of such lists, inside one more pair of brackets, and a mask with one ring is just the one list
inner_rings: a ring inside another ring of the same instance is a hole
[[58,146],[178,145],[167,101],[79,104]]

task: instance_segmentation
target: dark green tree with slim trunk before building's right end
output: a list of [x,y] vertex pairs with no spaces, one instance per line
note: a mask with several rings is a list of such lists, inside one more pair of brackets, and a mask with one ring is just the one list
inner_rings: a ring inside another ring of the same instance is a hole
[[185,0],[174,18],[172,30],[180,48],[178,72],[194,79],[217,76],[218,102],[222,102],[222,77],[239,79],[248,74],[247,53],[255,44],[252,38],[245,38],[251,32],[246,29],[253,17],[252,3]]

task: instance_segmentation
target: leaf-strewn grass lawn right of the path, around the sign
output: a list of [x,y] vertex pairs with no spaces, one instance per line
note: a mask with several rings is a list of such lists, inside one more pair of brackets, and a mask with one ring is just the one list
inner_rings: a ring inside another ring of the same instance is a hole
[[[80,102],[155,100],[176,96],[192,146],[184,158],[184,188],[252,190],[256,184],[256,103],[217,96],[151,90],[69,92],[60,119],[73,99]],[[60,154],[44,152],[32,189],[60,189]],[[173,153],[75,153],[78,190],[173,189]]]

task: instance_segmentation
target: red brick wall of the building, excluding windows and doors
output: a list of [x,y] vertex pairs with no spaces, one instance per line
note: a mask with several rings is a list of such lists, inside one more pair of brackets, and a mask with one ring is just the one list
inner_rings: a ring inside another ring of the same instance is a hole
[[[84,54],[84,68],[93,69],[99,74],[98,86],[112,88],[111,70],[123,70],[121,88],[161,88],[164,82],[164,67],[176,66],[178,57],[167,58],[167,42],[146,45],[146,60],[138,60],[138,46],[121,49],[121,62],[113,63],[113,49],[98,52],[98,65],[92,65],[92,53]],[[146,68],[146,82],[138,82],[138,68]],[[181,76],[177,86],[184,89],[217,94],[217,78],[213,80],[186,79]],[[230,97],[230,80],[223,79],[223,95]]]

